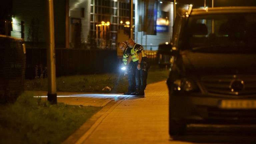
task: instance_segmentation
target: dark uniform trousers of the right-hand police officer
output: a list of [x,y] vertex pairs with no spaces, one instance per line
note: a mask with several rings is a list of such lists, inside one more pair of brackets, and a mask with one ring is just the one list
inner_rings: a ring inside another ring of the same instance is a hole
[[147,77],[148,77],[148,68],[149,68],[147,57],[142,57],[140,70],[137,69],[138,61],[134,63],[135,63],[136,88],[144,91],[147,86]]

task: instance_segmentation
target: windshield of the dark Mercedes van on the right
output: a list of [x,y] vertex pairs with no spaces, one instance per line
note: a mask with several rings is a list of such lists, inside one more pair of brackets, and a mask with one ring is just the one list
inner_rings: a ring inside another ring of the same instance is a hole
[[256,53],[256,13],[190,16],[181,49],[207,53]]

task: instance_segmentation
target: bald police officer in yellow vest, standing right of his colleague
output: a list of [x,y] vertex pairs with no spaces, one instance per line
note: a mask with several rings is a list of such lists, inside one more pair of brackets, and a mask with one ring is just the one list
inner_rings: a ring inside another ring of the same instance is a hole
[[127,45],[131,48],[132,61],[135,63],[136,91],[131,95],[144,96],[148,76],[147,55],[142,45],[136,44],[133,39],[129,38]]

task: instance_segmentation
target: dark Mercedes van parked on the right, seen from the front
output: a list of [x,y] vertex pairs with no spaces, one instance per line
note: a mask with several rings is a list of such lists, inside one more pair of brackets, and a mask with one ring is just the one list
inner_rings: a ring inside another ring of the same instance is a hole
[[169,133],[256,124],[256,7],[182,10],[173,31]]

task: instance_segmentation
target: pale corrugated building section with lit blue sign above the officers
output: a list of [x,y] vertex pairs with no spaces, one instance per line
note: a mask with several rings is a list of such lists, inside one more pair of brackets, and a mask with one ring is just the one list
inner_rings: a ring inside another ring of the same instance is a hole
[[[158,45],[161,43],[168,42],[170,43],[172,38],[172,26],[173,26],[173,2],[170,1],[155,1],[157,6],[155,6],[155,15],[157,19],[156,23],[156,32],[155,34],[147,34],[147,29],[153,29],[153,27],[145,28],[150,21],[143,21],[143,10],[144,12],[149,9],[146,7],[145,2],[142,0],[134,0],[135,2],[135,30],[134,30],[134,39],[137,43],[142,44],[145,50],[157,50]],[[164,21],[161,23],[161,21]],[[143,25],[144,22],[144,31],[140,29],[140,25]]]

